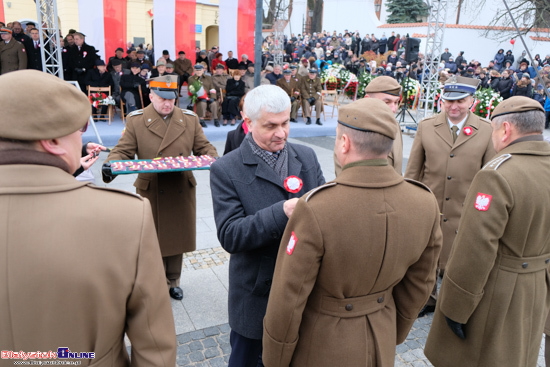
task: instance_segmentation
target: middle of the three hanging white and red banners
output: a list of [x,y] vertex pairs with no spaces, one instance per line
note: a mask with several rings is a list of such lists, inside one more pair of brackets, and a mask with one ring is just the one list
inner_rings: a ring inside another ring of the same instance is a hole
[[180,51],[195,60],[195,13],[196,0],[153,1],[153,44],[157,59],[163,50],[168,50],[172,60],[177,59]]

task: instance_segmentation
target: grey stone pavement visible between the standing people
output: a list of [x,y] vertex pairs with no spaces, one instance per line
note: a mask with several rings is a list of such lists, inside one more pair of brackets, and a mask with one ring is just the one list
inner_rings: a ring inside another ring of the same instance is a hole
[[[208,130],[208,129],[207,129]],[[291,131],[292,133],[292,131]],[[548,131],[545,131],[548,134]],[[292,136],[292,134],[291,134]],[[289,141],[313,148],[327,181],[334,179],[332,136],[290,138]],[[404,163],[408,161],[413,137],[404,134]],[[223,152],[225,141],[212,142]],[[100,168],[106,153],[94,165],[96,184],[135,192],[133,175],[118,177],[109,185],[101,182]],[[184,257],[181,287],[184,298],[172,300],[172,311],[178,341],[178,366],[226,366],[230,354],[227,313],[229,255],[216,237],[209,172],[197,171],[197,251]],[[430,366],[423,353],[432,316],[418,319],[405,343],[397,346],[396,366]],[[128,342],[128,341],[127,341]],[[543,348],[538,366],[544,366]]]

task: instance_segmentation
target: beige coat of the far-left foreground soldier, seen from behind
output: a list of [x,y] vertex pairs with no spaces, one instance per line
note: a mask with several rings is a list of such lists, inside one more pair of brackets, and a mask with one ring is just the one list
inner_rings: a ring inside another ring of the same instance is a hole
[[51,166],[2,165],[0,233],[2,350],[68,347],[96,353],[82,365],[174,366],[174,320],[147,200]]

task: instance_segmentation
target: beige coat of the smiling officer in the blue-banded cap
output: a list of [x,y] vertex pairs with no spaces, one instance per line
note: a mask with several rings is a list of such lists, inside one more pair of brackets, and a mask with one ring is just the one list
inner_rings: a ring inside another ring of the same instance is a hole
[[[472,128],[469,136],[464,133],[467,126]],[[472,112],[454,144],[445,113],[418,124],[405,177],[428,185],[439,204],[443,231],[440,269],[447,264],[468,187],[495,154],[491,134],[489,122]]]

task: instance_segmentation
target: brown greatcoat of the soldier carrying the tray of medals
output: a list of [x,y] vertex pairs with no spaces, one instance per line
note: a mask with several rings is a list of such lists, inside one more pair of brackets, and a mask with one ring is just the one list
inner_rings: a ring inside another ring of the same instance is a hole
[[[191,154],[218,156],[197,115],[176,107],[167,126],[150,104],[129,115],[126,131],[107,161],[135,159],[135,155],[138,159],[152,159]],[[104,181],[108,182],[105,177]],[[151,202],[162,256],[196,248],[196,185],[191,171],[140,173],[134,182],[136,192]]]

